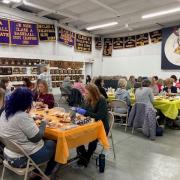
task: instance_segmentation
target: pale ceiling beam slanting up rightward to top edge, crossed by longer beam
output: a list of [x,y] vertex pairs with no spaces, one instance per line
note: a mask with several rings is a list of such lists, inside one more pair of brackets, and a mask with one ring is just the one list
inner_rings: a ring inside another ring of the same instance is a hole
[[[76,4],[79,4],[80,2],[82,2],[83,0],[70,0],[70,1],[66,1],[65,3],[61,4],[61,5],[57,5],[57,6],[54,6],[52,7],[52,9],[58,11],[58,10],[62,10],[62,9],[66,9],[68,7],[71,7],[71,6],[74,6]],[[45,15],[48,15],[49,12],[48,11],[41,11],[38,13],[38,16],[39,17],[42,17],[42,16],[45,16]]]

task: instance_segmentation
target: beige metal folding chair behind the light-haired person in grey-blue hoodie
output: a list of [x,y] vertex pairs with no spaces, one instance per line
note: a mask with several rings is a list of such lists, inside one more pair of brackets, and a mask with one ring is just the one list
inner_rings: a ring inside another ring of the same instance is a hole
[[[128,125],[128,106],[127,106],[126,102],[122,101],[122,100],[117,100],[117,99],[116,100],[112,100],[110,102],[110,108],[111,108],[111,111],[112,111],[114,117],[115,116],[120,117],[120,123],[121,123],[121,125],[125,126],[125,132],[126,132],[127,125]],[[115,112],[116,108],[125,109],[126,113]],[[123,118],[125,118],[125,123],[124,123],[124,119]],[[117,121],[117,122],[119,122],[119,121]]]

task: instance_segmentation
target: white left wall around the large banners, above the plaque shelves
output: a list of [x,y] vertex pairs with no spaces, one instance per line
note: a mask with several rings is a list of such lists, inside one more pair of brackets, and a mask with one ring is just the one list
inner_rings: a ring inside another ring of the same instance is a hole
[[[24,13],[23,11],[16,9],[9,9],[5,6],[0,6],[0,17],[9,18],[13,20],[20,20],[24,22],[34,22],[34,23],[57,23],[48,20],[46,18],[38,18],[29,13]],[[69,28],[71,30],[71,28]],[[76,29],[72,29],[74,32],[85,34]],[[85,34],[89,35],[89,34]],[[23,47],[23,46],[9,46],[0,45],[0,57],[13,57],[13,58],[38,58],[47,60],[64,60],[64,61],[81,61],[86,62],[89,60],[94,60],[93,65],[93,75],[101,75],[102,71],[99,67],[102,67],[101,61],[101,51],[95,50],[94,40],[92,44],[91,53],[81,53],[75,52],[74,47],[68,47],[66,45],[60,44],[59,42],[42,42],[38,46],[33,47]]]

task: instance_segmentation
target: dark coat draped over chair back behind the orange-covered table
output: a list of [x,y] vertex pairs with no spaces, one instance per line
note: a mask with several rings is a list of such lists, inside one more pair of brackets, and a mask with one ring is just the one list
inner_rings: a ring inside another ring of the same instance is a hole
[[78,89],[73,88],[68,99],[69,106],[81,106],[84,98]]

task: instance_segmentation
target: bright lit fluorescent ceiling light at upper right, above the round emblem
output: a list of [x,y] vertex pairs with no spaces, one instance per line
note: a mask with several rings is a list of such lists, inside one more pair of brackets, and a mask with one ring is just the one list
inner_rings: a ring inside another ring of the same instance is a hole
[[169,10],[164,10],[164,11],[159,11],[159,12],[155,12],[155,13],[145,14],[142,16],[142,19],[153,18],[153,17],[157,17],[157,16],[163,16],[166,14],[173,14],[176,12],[180,12],[180,7],[169,9]]

